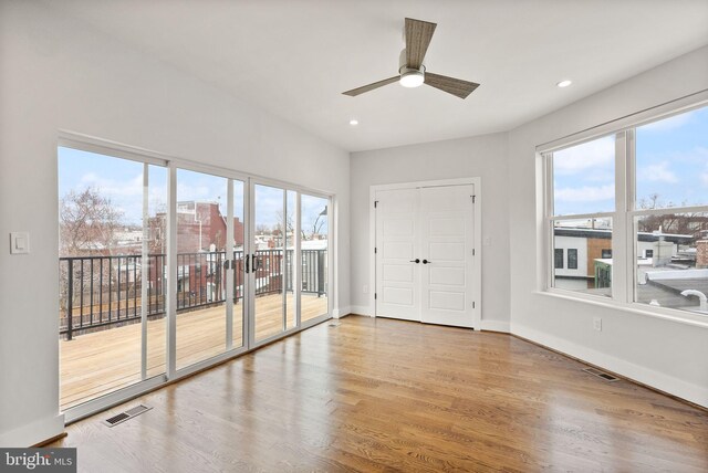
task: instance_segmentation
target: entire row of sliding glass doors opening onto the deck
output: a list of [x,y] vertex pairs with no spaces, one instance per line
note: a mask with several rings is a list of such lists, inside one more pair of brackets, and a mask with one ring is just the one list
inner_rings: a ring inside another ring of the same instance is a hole
[[327,317],[330,198],[66,141],[58,156],[67,419]]

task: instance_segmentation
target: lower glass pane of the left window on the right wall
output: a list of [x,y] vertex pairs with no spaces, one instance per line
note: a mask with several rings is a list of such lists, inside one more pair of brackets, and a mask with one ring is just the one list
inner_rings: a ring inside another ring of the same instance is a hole
[[612,219],[556,220],[553,287],[612,296]]

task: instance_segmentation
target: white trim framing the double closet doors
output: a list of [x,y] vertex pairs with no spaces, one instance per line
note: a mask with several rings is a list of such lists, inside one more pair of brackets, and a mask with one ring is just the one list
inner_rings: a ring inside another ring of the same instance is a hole
[[476,294],[475,308],[472,309],[472,324],[476,330],[481,329],[482,320],[482,179],[481,177],[438,179],[413,182],[396,182],[368,187],[368,314],[376,315],[376,192],[382,190],[418,189],[424,187],[446,186],[475,186],[475,264],[472,266],[473,291]]

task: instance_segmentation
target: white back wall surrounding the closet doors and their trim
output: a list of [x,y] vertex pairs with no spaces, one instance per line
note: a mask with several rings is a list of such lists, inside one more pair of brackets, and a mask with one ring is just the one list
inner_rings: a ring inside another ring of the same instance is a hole
[[352,190],[352,311],[372,315],[369,281],[369,187],[383,183],[481,177],[482,328],[509,328],[509,219],[507,136],[473,138],[353,153]]

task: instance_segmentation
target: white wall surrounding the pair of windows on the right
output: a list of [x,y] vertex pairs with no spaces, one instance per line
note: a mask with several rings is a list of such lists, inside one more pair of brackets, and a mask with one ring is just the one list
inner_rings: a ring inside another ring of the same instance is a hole
[[[582,77],[576,77],[582,80]],[[542,208],[535,147],[708,88],[708,48],[670,61],[509,134],[511,329],[708,406],[708,328],[538,292]],[[593,317],[602,317],[602,332]]]

